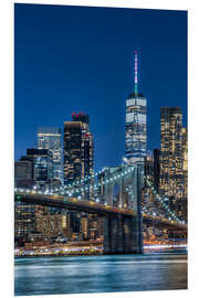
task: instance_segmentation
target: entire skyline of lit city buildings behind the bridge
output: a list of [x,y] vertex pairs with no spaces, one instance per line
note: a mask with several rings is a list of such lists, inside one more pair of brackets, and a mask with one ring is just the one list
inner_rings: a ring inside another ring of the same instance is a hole
[[[137,52],[134,53],[134,92],[126,98],[123,160],[129,166],[142,163],[145,177],[157,193],[166,198],[169,207],[180,219],[186,219],[188,142],[187,129],[182,127],[182,111],[180,107],[161,107],[160,148],[148,151],[147,99],[138,92]],[[117,167],[106,167],[104,172],[98,174],[98,181],[103,181],[109,172],[116,170]],[[93,190],[94,138],[90,128],[90,117],[84,113],[73,113],[72,118],[64,123],[63,138],[60,128],[39,127],[36,148],[27,149],[27,155],[22,156],[14,167],[17,188],[51,190],[77,181],[85,183],[87,177],[90,177],[87,188],[75,195],[92,201],[96,199]],[[103,188],[102,183],[97,190],[100,200],[97,202],[101,203],[105,203],[104,198],[101,198]],[[113,204],[117,204],[119,195],[122,194],[114,194]],[[143,204],[153,200],[151,190],[144,184]],[[19,202],[15,203],[14,225],[18,238],[41,236],[46,240],[53,237],[82,240],[103,236],[101,219],[95,215]]]

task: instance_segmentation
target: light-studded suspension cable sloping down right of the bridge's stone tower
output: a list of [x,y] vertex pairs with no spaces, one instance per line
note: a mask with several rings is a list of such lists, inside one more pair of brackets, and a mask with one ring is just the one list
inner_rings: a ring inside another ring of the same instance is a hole
[[[174,220],[174,221],[176,221],[177,223],[180,223],[180,224],[186,224],[184,221],[181,221],[181,220],[179,220],[177,216],[176,216],[176,214],[169,209],[169,206],[167,205],[167,204],[165,204],[165,201],[167,200],[167,198],[161,198],[160,195],[158,195],[157,193],[156,193],[156,191],[154,190],[154,187],[151,185],[151,183],[148,181],[148,179],[147,179],[147,177],[144,177],[144,179],[145,179],[145,181],[147,182],[147,185],[149,187],[149,189],[153,191],[153,194],[155,195],[155,198],[156,198],[156,200],[157,201],[159,201],[160,203],[161,203],[161,205],[164,206],[164,211],[166,211],[167,213],[169,213],[169,215],[171,216],[171,217],[169,217],[168,220],[170,221],[171,219]],[[156,207],[157,209],[157,206],[155,206],[155,205],[150,205],[149,207]],[[145,209],[147,209],[147,206],[145,206]],[[160,210],[158,210],[158,212],[159,212]],[[147,212],[147,211],[146,211]],[[157,214],[158,214],[158,212],[157,212]],[[150,212],[147,212],[148,213],[148,215],[151,215],[151,213]],[[165,215],[165,214],[164,214]]]

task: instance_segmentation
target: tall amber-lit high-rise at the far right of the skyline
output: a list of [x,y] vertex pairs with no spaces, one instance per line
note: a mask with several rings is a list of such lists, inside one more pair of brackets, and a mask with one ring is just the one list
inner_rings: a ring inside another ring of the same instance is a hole
[[[161,107],[159,193],[169,198],[170,206],[181,217],[187,200],[184,171],[182,113],[180,107]],[[185,142],[186,143],[186,142]]]

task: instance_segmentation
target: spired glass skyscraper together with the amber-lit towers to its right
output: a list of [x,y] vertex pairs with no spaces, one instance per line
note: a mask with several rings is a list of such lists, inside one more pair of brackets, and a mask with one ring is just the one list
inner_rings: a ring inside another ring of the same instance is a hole
[[[144,174],[155,190],[168,200],[176,214],[187,217],[188,142],[180,107],[160,108],[160,149],[147,151],[147,100],[138,93],[138,57],[134,53],[134,92],[126,98],[126,163],[142,162]],[[153,201],[144,184],[143,205]]]

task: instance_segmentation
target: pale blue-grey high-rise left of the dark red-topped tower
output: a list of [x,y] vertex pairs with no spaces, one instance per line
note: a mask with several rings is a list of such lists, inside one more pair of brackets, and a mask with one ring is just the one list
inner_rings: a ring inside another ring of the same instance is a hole
[[38,148],[49,149],[53,156],[52,179],[63,182],[61,129],[55,127],[38,128]]

